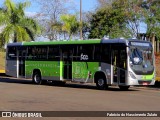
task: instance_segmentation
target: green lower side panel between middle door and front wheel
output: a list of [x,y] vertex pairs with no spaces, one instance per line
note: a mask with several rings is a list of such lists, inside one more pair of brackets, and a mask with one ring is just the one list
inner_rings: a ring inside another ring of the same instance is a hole
[[93,83],[94,73],[98,71],[98,62],[72,62],[73,81]]

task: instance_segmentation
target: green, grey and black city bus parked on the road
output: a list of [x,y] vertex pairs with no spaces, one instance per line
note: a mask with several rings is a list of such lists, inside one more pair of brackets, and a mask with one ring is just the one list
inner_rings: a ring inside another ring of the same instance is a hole
[[94,83],[98,89],[154,85],[153,46],[137,39],[9,43],[6,74],[47,81]]

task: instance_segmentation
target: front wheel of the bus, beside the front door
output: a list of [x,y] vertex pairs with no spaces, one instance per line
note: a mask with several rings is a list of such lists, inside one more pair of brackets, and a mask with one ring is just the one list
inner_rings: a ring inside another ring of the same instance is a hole
[[106,80],[104,78],[97,79],[96,86],[99,90],[105,90],[106,88],[108,88],[108,86],[106,84]]

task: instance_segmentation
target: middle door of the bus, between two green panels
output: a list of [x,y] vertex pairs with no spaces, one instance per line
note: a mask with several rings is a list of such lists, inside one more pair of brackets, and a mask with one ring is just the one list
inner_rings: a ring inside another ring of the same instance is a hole
[[72,80],[72,50],[64,49],[62,50],[63,59],[63,79]]

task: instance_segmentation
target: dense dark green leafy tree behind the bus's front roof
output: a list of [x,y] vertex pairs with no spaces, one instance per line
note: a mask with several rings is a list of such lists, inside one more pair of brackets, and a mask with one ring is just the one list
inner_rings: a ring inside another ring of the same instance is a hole
[[89,38],[102,38],[105,35],[109,35],[111,38],[130,35],[126,27],[124,7],[116,2],[111,5],[106,4],[92,15]]

